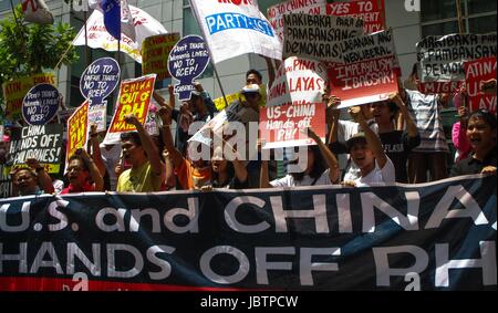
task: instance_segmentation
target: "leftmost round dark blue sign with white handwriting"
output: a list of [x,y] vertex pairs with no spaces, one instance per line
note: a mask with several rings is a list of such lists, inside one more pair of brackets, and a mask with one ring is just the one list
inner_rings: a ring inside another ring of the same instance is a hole
[[29,125],[45,125],[59,109],[59,91],[50,84],[32,87],[22,101],[22,117]]

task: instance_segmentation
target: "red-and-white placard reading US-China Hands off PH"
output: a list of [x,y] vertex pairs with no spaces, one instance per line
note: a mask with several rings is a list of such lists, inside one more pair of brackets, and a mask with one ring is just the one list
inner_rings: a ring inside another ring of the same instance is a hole
[[259,111],[259,134],[262,149],[311,146],[317,143],[301,132],[311,127],[325,142],[325,104],[303,103],[267,106]]

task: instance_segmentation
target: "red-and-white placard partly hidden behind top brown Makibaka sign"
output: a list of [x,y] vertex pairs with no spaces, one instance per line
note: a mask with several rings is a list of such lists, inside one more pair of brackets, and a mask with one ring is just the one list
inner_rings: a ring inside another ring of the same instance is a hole
[[325,0],[289,0],[268,8],[268,21],[270,22],[280,41],[283,42],[283,14],[307,13],[313,15],[324,15],[325,4]]

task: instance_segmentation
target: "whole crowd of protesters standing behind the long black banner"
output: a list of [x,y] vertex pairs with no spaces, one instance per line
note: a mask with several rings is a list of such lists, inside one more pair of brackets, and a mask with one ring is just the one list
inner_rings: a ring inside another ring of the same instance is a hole
[[[267,88],[258,71],[250,70],[246,76],[242,97],[229,105],[227,116],[228,121],[240,122],[247,127],[250,122],[259,122],[259,109],[264,106]],[[304,129],[303,135],[317,145],[305,148],[307,160],[301,170],[280,177],[276,170],[269,170],[270,166],[274,167],[273,161],[261,160],[260,140],[246,140],[242,149],[248,152],[249,145],[257,145],[258,157],[255,158],[246,153],[241,155],[239,147],[228,143],[229,137],[215,129],[209,129],[212,138],[210,145],[197,145],[197,149],[208,149],[210,157],[193,158],[190,125],[195,122],[208,123],[218,112],[199,83],[195,84],[190,100],[183,102],[178,108],[169,87],[168,101],[154,93],[159,105],[159,136],[151,136],[138,119],[128,114],[126,122],[137,131],[123,133],[120,145],[103,145],[101,142],[105,132],[97,133],[92,125],[87,146],[68,158],[65,174],[61,177],[65,185],[46,174],[37,159],[28,159],[27,168],[10,174],[13,186],[11,196],[172,189],[208,191],[214,188],[314,185],[363,187],[422,184],[470,174],[496,175],[496,115],[483,109],[469,113],[463,104],[465,90],[453,95],[459,121],[453,128],[457,155],[449,156],[442,108],[448,106],[452,96],[422,94],[411,87],[416,85],[416,75],[411,75],[404,82],[406,87],[400,82],[398,93],[392,94],[387,101],[350,107],[350,118],[345,119],[341,119],[341,111],[336,108],[341,100],[325,90],[322,98],[326,107],[326,140],[322,142],[314,129]],[[487,88],[496,93],[496,80],[490,84]],[[176,123],[175,129],[173,122]],[[0,147],[1,163],[7,160],[8,142],[9,137],[4,136]],[[300,157],[286,155],[284,165],[297,165]],[[455,165],[449,169],[448,157],[455,159]]]

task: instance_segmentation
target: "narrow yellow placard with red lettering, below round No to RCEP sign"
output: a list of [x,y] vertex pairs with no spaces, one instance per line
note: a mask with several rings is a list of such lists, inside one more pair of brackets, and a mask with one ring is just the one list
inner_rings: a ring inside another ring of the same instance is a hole
[[89,101],[85,101],[68,119],[66,164],[76,149],[86,147],[89,131]]

